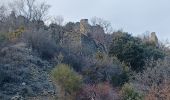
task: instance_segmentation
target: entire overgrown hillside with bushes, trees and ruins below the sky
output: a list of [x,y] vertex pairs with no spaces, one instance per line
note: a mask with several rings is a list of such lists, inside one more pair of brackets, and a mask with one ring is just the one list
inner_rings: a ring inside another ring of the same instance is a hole
[[11,4],[0,7],[0,99],[170,98],[170,50],[156,34],[112,32],[97,17],[47,25],[48,4]]

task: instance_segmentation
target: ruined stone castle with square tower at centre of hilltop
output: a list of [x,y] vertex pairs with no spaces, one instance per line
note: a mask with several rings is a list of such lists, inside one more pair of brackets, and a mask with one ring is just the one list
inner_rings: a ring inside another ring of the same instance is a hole
[[100,29],[99,26],[91,26],[88,23],[88,19],[81,19],[80,22],[75,23],[73,31],[64,33],[64,42],[69,44],[67,46],[69,48],[76,48],[77,51],[84,50],[90,54],[94,54],[98,50],[104,51],[104,46],[98,44],[95,39],[90,37],[90,34],[104,34],[104,31],[101,30],[102,28]]

